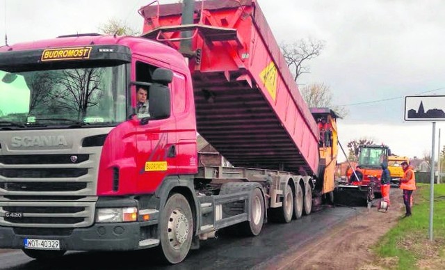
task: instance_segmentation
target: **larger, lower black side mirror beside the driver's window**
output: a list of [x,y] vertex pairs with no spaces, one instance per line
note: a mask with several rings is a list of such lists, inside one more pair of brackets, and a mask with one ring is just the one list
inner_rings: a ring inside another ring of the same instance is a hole
[[170,88],[168,86],[154,83],[149,88],[150,119],[165,119],[170,117]]

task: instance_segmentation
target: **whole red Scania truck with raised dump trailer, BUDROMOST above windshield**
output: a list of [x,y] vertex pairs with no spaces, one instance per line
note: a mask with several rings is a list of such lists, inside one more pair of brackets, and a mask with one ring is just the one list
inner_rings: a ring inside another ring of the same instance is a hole
[[[332,195],[337,115],[309,110],[257,1],[184,6],[188,24],[181,4],[141,8],[140,37],[0,47],[0,248],[159,248],[175,264],[217,230],[259,235]],[[199,166],[197,132],[233,167]]]

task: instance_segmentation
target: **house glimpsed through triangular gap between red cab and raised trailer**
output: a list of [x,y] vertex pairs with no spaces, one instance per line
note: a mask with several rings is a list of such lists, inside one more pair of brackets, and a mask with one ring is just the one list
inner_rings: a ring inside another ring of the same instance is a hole
[[201,135],[197,136],[197,159],[200,166],[232,167],[232,164]]

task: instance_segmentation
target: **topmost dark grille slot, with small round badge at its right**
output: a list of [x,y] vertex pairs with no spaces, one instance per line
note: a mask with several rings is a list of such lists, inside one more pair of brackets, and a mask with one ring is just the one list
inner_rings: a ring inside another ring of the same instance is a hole
[[89,159],[89,154],[33,154],[0,156],[1,164],[78,164]]

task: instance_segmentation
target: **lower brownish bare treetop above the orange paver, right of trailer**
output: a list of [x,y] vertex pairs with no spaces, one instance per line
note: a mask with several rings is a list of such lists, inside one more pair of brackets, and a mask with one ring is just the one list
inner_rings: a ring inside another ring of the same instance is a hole
[[309,84],[302,87],[301,95],[309,107],[327,107],[335,111],[340,117],[345,117],[348,110],[345,107],[332,105],[332,93],[325,84]]

